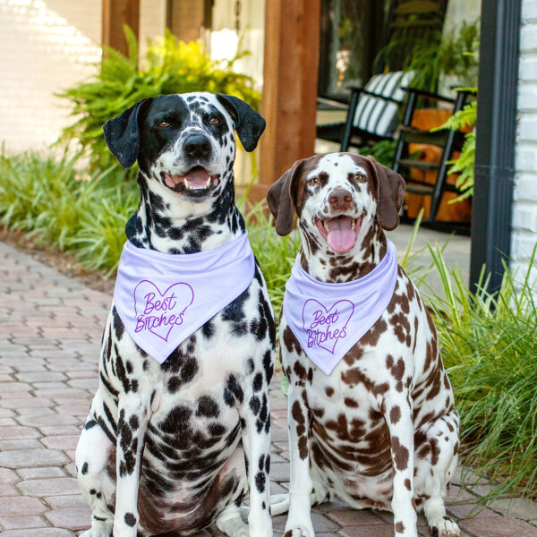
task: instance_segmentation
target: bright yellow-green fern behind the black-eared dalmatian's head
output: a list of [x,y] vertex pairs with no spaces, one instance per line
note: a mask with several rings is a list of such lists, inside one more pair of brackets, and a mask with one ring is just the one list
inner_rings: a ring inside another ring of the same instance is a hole
[[166,30],[164,38],[149,41],[148,52],[138,66],[138,42],[128,27],[124,28],[129,55],[103,47],[104,57],[92,80],[58,93],[72,106],[73,124],[66,127],[61,141],[79,141],[89,152],[94,166],[115,164],[107,150],[102,126],[142,98],[169,93],[210,91],[233,94],[260,105],[260,93],[251,77],[234,72],[234,63],[248,52],[239,52],[231,60],[213,60],[200,42],[184,43]]

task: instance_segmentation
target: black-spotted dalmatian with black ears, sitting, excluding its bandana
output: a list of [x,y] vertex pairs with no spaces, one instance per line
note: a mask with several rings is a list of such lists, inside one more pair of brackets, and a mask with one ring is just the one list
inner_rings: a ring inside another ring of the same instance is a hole
[[[139,248],[206,251],[243,234],[234,205],[234,130],[255,149],[264,119],[209,93],[144,99],[105,125],[124,167],[138,160],[141,200],[126,226]],[[112,304],[100,383],[76,465],[92,510],[84,537],[196,533],[272,537],[268,383],[275,321],[256,265],[251,285],[157,361]],[[250,493],[248,525],[239,506]]]

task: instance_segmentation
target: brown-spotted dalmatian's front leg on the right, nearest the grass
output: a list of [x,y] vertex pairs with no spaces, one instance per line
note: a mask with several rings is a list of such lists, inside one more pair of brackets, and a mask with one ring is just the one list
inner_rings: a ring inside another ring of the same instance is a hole
[[[396,390],[393,390],[396,392]],[[413,499],[413,408],[405,391],[387,396],[383,404],[394,465],[391,502],[397,537],[417,537]]]

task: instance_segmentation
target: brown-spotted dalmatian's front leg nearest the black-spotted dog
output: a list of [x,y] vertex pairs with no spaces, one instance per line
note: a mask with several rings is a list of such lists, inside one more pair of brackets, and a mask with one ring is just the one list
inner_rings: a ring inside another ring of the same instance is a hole
[[291,482],[285,537],[315,536],[311,524],[310,413],[303,397],[304,381],[292,374],[287,394]]

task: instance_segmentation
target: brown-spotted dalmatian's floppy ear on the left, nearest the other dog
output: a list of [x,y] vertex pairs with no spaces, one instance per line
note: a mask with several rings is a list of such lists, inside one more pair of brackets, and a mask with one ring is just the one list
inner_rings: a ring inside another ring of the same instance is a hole
[[268,209],[276,218],[276,232],[290,234],[294,226],[294,187],[302,172],[303,160],[297,160],[267,192]]

